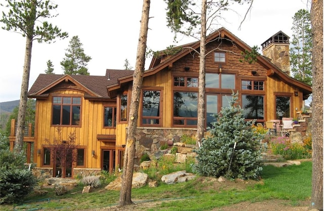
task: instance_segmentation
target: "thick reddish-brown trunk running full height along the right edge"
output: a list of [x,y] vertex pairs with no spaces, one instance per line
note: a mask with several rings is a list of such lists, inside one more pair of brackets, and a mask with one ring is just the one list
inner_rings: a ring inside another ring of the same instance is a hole
[[323,0],[312,1],[310,19],[313,33],[311,208],[323,210]]

